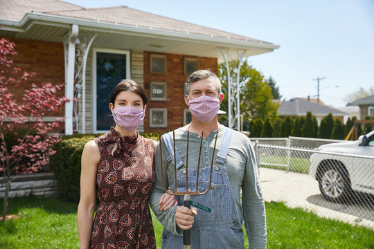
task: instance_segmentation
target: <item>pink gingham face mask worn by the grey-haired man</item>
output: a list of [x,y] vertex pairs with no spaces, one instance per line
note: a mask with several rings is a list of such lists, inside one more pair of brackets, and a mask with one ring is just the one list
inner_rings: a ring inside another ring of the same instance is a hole
[[188,103],[191,113],[200,122],[211,121],[220,109],[220,100],[206,95],[189,100]]

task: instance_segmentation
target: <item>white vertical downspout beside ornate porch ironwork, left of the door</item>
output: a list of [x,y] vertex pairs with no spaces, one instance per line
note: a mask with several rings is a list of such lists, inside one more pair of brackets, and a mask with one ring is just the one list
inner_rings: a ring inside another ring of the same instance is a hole
[[65,95],[69,100],[65,104],[65,134],[73,134],[73,98],[74,98],[74,66],[75,66],[75,42],[78,39],[79,28],[73,24],[69,32],[69,50],[67,58],[67,74],[65,84]]

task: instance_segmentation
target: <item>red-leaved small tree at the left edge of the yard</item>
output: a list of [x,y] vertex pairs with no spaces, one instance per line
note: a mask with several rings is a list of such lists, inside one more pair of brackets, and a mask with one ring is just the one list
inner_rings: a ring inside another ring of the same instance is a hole
[[[62,120],[43,122],[43,118],[66,102],[64,96],[56,95],[62,85],[51,83],[39,87],[31,84],[17,100],[15,93],[19,86],[24,86],[35,73],[13,67],[12,55],[17,55],[15,44],[0,39],[0,172],[3,172],[5,183],[3,221],[8,210],[10,183],[14,179],[11,174],[33,173],[49,163],[49,156],[55,154],[52,145],[60,138],[48,135],[48,131],[58,127]],[[14,139],[10,142],[9,138]]]

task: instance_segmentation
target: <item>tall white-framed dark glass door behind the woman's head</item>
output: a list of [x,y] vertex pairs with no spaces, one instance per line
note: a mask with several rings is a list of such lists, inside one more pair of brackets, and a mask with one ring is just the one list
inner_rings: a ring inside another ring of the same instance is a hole
[[92,129],[104,133],[114,126],[109,109],[110,93],[124,79],[130,79],[130,52],[94,49],[92,80]]

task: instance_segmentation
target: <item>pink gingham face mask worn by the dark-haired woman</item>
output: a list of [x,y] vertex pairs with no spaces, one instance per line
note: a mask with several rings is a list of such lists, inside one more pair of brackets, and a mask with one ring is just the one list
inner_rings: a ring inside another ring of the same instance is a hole
[[138,128],[144,119],[144,110],[135,107],[117,107],[113,109],[114,122],[130,132]]

